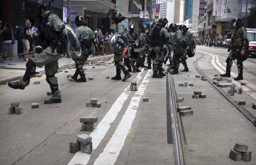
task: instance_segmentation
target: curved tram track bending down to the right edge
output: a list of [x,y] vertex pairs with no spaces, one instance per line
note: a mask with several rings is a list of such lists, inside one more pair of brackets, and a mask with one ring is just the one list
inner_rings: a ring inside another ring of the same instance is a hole
[[219,93],[224,96],[225,99],[227,99],[227,101],[229,101],[231,104],[233,104],[233,106],[235,106],[238,111],[240,111],[243,115],[245,115],[245,117],[254,124],[254,126],[256,126],[256,117],[251,114],[251,112],[249,112],[245,107],[241,107],[240,105],[238,105],[237,101],[233,101],[232,98],[230,98],[230,96],[228,96],[224,91],[222,91],[220,88],[218,88],[216,85],[214,85],[214,83],[211,81],[211,79],[209,77],[207,77],[206,74],[204,74],[203,70],[201,70],[198,66],[198,61],[200,59],[202,59],[204,57],[204,53],[198,52],[201,54],[201,56],[199,58],[197,58],[194,62],[194,68],[196,69],[196,71],[201,75],[201,76],[205,76],[207,78],[208,83],[210,83],[217,91],[219,91]]

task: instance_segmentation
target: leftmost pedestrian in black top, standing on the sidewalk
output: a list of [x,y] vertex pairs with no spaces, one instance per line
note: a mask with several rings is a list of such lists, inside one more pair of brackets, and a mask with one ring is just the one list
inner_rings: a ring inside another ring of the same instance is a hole
[[[14,39],[14,33],[13,33],[13,29],[11,29],[11,25],[6,23],[5,24],[5,28],[3,28],[2,32],[2,37],[3,37],[3,54],[4,57],[3,59],[7,58],[7,50],[9,51],[9,56],[10,56],[10,60],[12,60],[12,56],[13,56],[13,41],[12,39]],[[15,39],[14,39],[15,42]]]

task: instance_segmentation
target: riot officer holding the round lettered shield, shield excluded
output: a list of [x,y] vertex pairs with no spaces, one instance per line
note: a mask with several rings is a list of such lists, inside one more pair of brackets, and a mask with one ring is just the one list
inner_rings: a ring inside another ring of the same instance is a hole
[[[122,21],[125,19],[124,16],[122,16],[121,13],[115,12],[111,15],[110,19],[112,19],[115,24],[115,31],[114,33],[122,33],[125,34],[125,27],[122,25]],[[115,77],[111,77],[112,80],[121,80],[121,70],[124,72],[125,77],[123,78],[122,81],[127,80],[128,78],[131,77],[131,74],[128,72],[126,69],[125,65],[123,64],[123,57],[122,54],[117,54],[114,53],[114,61],[115,61],[115,66],[116,66],[116,72],[117,74]]]

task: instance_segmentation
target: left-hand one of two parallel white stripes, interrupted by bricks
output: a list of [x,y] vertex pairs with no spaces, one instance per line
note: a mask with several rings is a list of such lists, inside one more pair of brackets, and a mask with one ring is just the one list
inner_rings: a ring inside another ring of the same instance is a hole
[[[142,78],[141,74],[144,70],[141,70],[137,75],[135,81],[139,82]],[[92,150],[95,150],[100,141],[104,138],[105,134],[110,128],[110,124],[115,120],[118,113],[123,107],[128,95],[130,94],[130,85],[123,91],[123,93],[117,98],[115,103],[113,103],[112,107],[109,109],[104,118],[100,121],[97,127],[93,130],[93,132],[89,135],[92,137]],[[87,165],[90,159],[90,155],[83,152],[76,152],[75,156],[70,160],[68,165]]]

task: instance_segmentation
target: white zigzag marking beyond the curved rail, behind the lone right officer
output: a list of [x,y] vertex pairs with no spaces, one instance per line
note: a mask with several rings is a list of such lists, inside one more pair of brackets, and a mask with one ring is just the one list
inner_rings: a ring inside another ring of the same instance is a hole
[[[225,71],[223,71],[223,70],[226,70],[226,67],[224,67],[222,64],[220,64],[219,58],[218,58],[217,56],[215,56],[214,54],[211,54],[211,53],[204,52],[204,51],[199,51],[199,52],[201,52],[201,53],[206,53],[206,54],[211,55],[211,56],[212,56],[212,61],[211,61],[211,62],[212,62],[212,65],[213,65],[217,70],[219,70],[219,72],[220,72],[221,74],[224,74],[224,73],[225,73]],[[215,64],[215,58],[216,58],[216,63],[217,63],[220,67]],[[223,70],[222,70],[222,69],[223,69]],[[237,77],[237,75],[234,74],[233,72],[230,72],[230,75],[232,75],[232,77]],[[255,85],[251,84],[250,82],[248,82],[248,81],[246,81],[246,80],[242,80],[242,81],[243,81],[243,82],[246,82],[246,85],[247,85],[248,87],[250,87],[250,88],[256,90],[256,86],[255,86]],[[235,80],[232,81],[232,83],[234,83],[235,85],[237,85],[237,87],[243,88],[243,91],[245,91],[246,93],[248,93],[252,98],[256,99],[256,93],[252,92],[249,88],[247,88],[246,86],[241,85],[239,82],[237,82],[237,81],[235,81]]]

